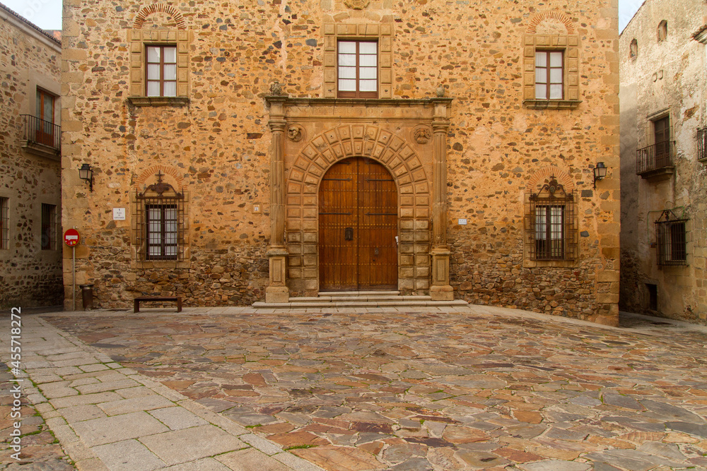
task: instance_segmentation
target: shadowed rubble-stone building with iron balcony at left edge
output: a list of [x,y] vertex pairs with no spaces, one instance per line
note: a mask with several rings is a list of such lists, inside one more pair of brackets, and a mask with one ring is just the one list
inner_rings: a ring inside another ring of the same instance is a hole
[[62,304],[62,45],[0,4],[0,306]]

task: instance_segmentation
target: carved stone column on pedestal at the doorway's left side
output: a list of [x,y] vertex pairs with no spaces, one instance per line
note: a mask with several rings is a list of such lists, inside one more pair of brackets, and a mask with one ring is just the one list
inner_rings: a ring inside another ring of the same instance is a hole
[[268,124],[272,133],[270,156],[270,246],[267,249],[270,277],[265,288],[265,302],[288,302],[290,291],[286,285],[287,249],[285,246],[285,121],[286,95],[271,87],[267,102],[270,105]]

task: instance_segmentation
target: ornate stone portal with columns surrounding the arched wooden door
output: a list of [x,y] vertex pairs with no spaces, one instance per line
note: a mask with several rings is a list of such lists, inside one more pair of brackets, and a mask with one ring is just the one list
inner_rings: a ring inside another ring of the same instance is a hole
[[378,160],[399,188],[399,290],[453,299],[446,195],[452,99],[269,95],[266,101],[272,137],[266,302],[318,292],[317,191],[329,167],[354,156]]

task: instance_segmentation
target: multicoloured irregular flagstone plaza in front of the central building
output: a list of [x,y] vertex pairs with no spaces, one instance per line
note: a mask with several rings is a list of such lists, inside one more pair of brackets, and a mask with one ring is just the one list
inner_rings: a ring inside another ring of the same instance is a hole
[[707,469],[707,328],[511,309],[45,318],[327,470]]

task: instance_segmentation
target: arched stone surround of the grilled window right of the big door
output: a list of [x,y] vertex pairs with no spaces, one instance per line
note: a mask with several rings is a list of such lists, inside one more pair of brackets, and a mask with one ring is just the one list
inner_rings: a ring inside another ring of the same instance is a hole
[[[537,172],[534,180],[544,179],[539,191],[525,194],[523,242],[525,268],[573,268],[580,262],[577,191],[571,179],[559,169],[545,168]],[[531,184],[530,188],[536,187]],[[551,190],[551,187],[553,189]],[[547,205],[563,206],[563,258],[537,258],[535,248],[535,208]]]

